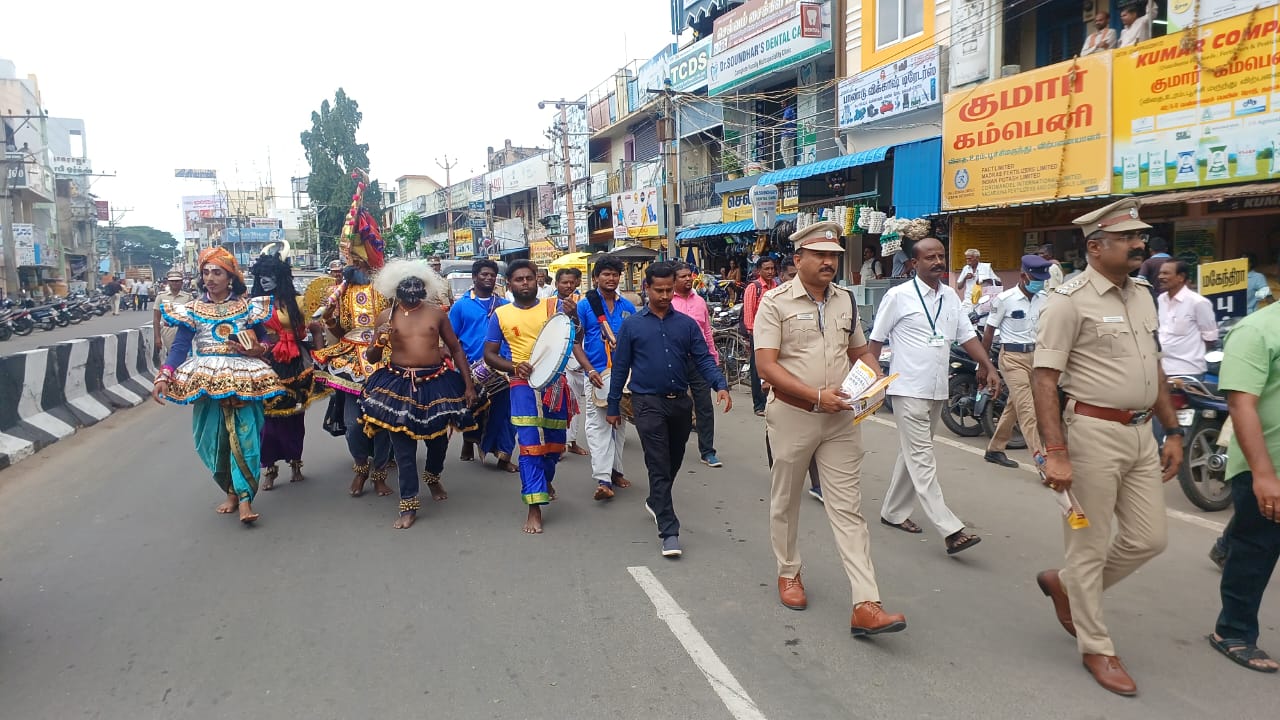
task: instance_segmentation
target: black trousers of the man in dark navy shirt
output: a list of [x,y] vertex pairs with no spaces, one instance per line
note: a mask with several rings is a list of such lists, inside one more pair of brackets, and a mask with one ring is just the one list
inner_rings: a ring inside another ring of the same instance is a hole
[[680,534],[680,519],[671,491],[685,461],[685,443],[692,429],[692,400],[689,393],[676,397],[632,395],[631,409],[636,416],[636,434],[644,448],[644,465],[649,470],[649,509],[658,516],[658,537]]

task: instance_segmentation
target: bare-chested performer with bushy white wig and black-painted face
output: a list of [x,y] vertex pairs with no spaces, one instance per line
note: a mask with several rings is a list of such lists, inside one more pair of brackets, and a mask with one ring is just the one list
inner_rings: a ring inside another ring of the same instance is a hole
[[[421,503],[417,500],[417,443],[426,443],[426,469],[422,480],[431,500],[449,496],[440,482],[444,454],[449,448],[449,428],[460,432],[475,428],[471,406],[476,401],[466,352],[453,334],[449,316],[440,307],[447,297],[444,281],[426,265],[413,260],[394,260],[378,272],[374,288],[396,302],[378,316],[378,337],[369,348],[379,366],[365,383],[360,398],[366,433],[385,430],[390,437],[399,474],[401,503],[398,529],[413,525]],[[443,342],[443,348],[442,348]],[[454,370],[444,363],[447,350]]]

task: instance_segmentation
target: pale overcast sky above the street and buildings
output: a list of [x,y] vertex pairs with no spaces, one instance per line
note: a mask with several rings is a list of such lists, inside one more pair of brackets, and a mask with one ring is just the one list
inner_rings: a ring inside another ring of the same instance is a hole
[[[56,9],[55,9],[56,6]],[[92,192],[120,222],[182,237],[183,195],[270,176],[288,206],[298,135],[338,87],[360,102],[372,176],[484,172],[509,138],[547,146],[553,110],[671,42],[668,0],[69,0],[5,3],[0,56],[36,74],[50,115],[83,118]],[[18,108],[0,110],[20,111]],[[268,158],[270,156],[270,163]]]

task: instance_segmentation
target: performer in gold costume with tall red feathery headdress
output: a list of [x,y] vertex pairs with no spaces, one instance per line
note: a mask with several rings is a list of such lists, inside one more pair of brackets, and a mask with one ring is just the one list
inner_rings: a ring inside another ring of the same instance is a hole
[[387,309],[385,297],[371,284],[371,274],[383,266],[383,241],[366,210],[357,208],[360,193],[347,218],[342,249],[349,265],[342,270],[342,282],[334,287],[321,318],[338,342],[311,351],[316,363],[316,380],[343,393],[343,421],[347,425],[347,450],[351,452],[351,496],[365,492],[365,482],[374,480],[380,496],[392,493],[387,487],[387,462],[390,438],[378,433],[370,437],[360,424],[360,392],[376,365],[365,359],[365,350],[374,340],[378,314]]

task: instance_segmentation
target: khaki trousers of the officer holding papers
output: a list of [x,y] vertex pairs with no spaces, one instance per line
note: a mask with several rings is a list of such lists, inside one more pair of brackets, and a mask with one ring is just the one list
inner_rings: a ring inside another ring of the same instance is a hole
[[879,588],[872,565],[870,534],[861,514],[863,433],[852,418],[852,413],[806,413],[773,397],[765,406],[765,428],[773,450],[769,542],[778,561],[778,577],[800,574],[796,534],[812,459],[818,464],[827,519],[858,605],[879,602]]

